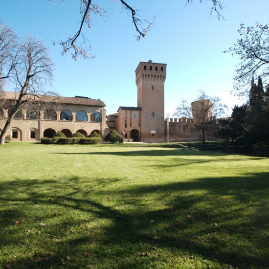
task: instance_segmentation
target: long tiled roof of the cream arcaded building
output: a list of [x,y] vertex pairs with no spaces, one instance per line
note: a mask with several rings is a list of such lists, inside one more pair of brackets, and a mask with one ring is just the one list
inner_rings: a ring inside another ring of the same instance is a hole
[[[17,100],[19,98],[19,92],[3,91],[1,98],[7,100]],[[100,106],[105,107],[105,103],[100,99],[91,99],[85,97],[62,97],[55,95],[33,95],[27,94],[23,96],[23,100],[29,99],[31,101],[50,102],[56,104],[70,104],[70,105],[86,105],[86,106]]]

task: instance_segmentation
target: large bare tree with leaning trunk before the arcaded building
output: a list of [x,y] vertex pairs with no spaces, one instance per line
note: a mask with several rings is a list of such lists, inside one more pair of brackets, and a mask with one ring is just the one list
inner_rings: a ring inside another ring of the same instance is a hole
[[[5,27],[0,29],[5,29]],[[8,114],[0,134],[0,144],[4,144],[10,123],[22,107],[27,105],[28,109],[32,107],[32,112],[37,111],[44,98],[48,95],[55,95],[53,91],[45,90],[45,86],[52,79],[53,69],[47,48],[40,40],[35,40],[32,37],[17,38],[16,40],[16,49],[11,50],[11,56],[7,54],[11,58],[3,59],[3,64],[1,64],[1,70],[5,71],[5,78],[1,76],[1,80],[8,80],[9,91],[14,91],[17,97],[13,101],[8,101],[5,98],[6,92],[2,92],[1,106],[8,109]]]

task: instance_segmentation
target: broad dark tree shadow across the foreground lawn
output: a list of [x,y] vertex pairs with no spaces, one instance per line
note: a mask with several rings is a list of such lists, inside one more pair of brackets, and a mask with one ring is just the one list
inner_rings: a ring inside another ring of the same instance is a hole
[[[47,231],[50,240],[45,237],[45,230],[39,238],[32,236],[38,242],[33,244],[47,242],[46,250],[25,247],[26,254],[29,248],[33,251],[32,260],[23,255],[11,257],[11,268],[79,268],[89,264],[96,268],[173,267],[179,266],[179,259],[195,261],[197,257],[202,257],[203,266],[215,261],[222,267],[268,267],[268,179],[269,173],[259,173],[128,186],[115,191],[99,186],[98,180],[90,182],[85,190],[85,179],[81,178],[61,182],[18,179],[9,181],[8,186],[0,182],[0,203],[4,208],[0,213],[0,253],[7,246],[26,244],[16,231],[22,229],[20,224],[15,227],[13,222],[19,218],[27,220],[27,210],[35,210],[36,205],[44,207],[44,211],[48,206],[67,210],[68,219],[65,222],[53,213],[39,213],[37,223],[55,220],[53,227],[47,227],[54,231]],[[58,195],[63,184],[74,181],[71,192]],[[22,190],[27,197],[16,194]],[[12,200],[5,198],[6,193]],[[106,205],[108,197],[112,197],[112,202]],[[161,209],[156,209],[158,206]],[[85,217],[76,218],[77,212]],[[99,226],[89,228],[95,220]],[[103,224],[105,220],[108,222]],[[70,236],[63,229],[73,229],[74,233]],[[24,230],[26,233],[26,226]],[[85,252],[89,256],[85,257]],[[66,261],[67,255],[76,260]]]

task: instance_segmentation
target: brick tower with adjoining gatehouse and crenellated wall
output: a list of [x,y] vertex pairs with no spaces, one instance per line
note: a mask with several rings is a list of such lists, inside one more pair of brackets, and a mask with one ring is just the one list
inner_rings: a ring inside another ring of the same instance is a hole
[[[109,129],[116,130],[124,141],[157,143],[199,140],[201,131],[193,127],[191,119],[164,119],[165,79],[166,64],[140,62],[135,70],[137,107],[119,107],[117,113],[108,116]],[[196,103],[192,103],[193,108],[199,107]],[[215,127],[216,120],[212,118],[206,131],[207,137],[214,137]]]

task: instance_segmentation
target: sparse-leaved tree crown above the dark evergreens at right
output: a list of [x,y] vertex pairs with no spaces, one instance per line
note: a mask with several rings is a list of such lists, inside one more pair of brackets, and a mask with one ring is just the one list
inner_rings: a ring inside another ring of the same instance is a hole
[[237,43],[224,53],[240,57],[234,88],[238,90],[238,95],[247,96],[252,79],[260,77],[264,86],[269,86],[269,26],[258,22],[251,27],[241,24],[238,32],[240,38]]

